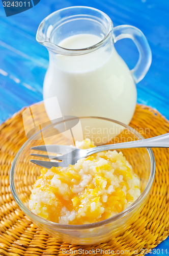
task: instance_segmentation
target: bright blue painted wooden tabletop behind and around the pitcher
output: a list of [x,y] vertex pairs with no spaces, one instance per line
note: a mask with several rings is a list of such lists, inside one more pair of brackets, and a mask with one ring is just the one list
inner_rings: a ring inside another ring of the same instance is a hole
[[[0,123],[23,106],[42,100],[48,52],[36,42],[38,25],[51,12],[74,5],[102,10],[114,26],[129,24],[143,31],[152,50],[152,65],[137,84],[137,102],[156,108],[169,119],[168,0],[41,0],[34,8],[10,17],[0,2]],[[117,50],[132,68],[138,53],[131,40],[117,42]],[[169,255],[169,239],[157,248],[159,255],[165,255],[166,249]]]

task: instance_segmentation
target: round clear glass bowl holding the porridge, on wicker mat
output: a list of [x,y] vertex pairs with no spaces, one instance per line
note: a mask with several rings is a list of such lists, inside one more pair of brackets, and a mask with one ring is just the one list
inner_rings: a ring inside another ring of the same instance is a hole
[[[142,131],[143,132],[143,131]],[[76,140],[90,138],[96,145],[143,139],[137,131],[121,122],[101,117],[72,117],[54,122],[30,137],[18,151],[11,167],[10,186],[13,197],[24,214],[52,237],[73,244],[98,244],[119,236],[139,218],[146,204],[155,175],[155,160],[151,148],[120,150],[140,178],[141,195],[120,214],[104,221],[85,225],[64,225],[43,219],[28,207],[31,190],[41,166],[30,162],[36,145],[74,145]],[[37,153],[37,151],[36,151]],[[42,153],[41,153],[42,154]],[[37,159],[37,158],[36,158]]]

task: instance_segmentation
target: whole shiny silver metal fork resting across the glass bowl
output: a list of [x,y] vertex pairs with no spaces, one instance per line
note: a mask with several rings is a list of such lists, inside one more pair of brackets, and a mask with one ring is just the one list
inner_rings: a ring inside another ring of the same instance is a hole
[[75,164],[80,158],[88,157],[100,151],[116,150],[119,148],[132,148],[132,147],[169,147],[169,133],[156,136],[153,138],[149,138],[149,139],[96,146],[96,147],[88,148],[87,150],[81,150],[79,148],[76,148],[73,146],[66,146],[66,145],[34,146],[34,147],[31,147],[31,150],[57,153],[57,154],[60,154],[60,156],[31,154],[31,156],[48,158],[50,160],[58,160],[58,162],[41,161],[41,160],[33,160],[33,159],[31,159],[30,161],[45,168],[51,168],[52,166],[66,167],[66,166],[69,166],[69,164]]

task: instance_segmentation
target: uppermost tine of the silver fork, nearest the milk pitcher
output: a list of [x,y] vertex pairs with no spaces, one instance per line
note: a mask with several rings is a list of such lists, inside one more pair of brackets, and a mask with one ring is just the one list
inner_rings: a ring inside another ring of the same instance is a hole
[[31,150],[46,151],[51,153],[65,154],[72,152],[75,148],[66,145],[42,145],[31,147]]

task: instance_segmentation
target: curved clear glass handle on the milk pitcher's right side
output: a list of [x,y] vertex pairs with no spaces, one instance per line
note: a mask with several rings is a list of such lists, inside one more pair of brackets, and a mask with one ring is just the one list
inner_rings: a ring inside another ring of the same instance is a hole
[[152,53],[148,41],[142,31],[130,25],[117,26],[113,29],[113,33],[115,42],[123,38],[130,38],[136,45],[139,58],[131,73],[135,83],[138,83],[145,77],[151,65]]

